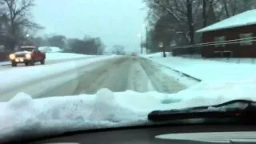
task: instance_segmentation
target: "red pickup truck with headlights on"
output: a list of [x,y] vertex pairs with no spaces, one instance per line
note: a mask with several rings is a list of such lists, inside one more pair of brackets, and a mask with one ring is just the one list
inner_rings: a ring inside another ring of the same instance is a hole
[[45,64],[46,54],[38,50],[38,46],[21,46],[20,49],[9,55],[11,66],[24,63],[26,66],[33,66],[34,62]]

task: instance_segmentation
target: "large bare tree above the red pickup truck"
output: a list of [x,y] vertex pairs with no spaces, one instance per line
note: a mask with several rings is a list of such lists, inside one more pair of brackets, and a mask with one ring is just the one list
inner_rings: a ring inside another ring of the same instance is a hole
[[0,45],[14,50],[26,40],[26,35],[43,29],[31,21],[34,0],[0,0]]

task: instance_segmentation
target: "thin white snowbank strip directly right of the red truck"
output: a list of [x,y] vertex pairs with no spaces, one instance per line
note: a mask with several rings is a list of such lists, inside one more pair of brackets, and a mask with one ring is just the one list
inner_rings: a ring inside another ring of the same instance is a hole
[[86,55],[86,54],[58,53],[58,52],[46,53],[46,61],[72,59],[72,58],[91,58],[91,57],[95,57],[95,56]]

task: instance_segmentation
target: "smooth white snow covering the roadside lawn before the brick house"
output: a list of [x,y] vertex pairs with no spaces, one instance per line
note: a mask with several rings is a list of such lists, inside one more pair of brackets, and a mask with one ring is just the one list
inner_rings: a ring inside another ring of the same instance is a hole
[[[163,66],[181,71],[201,80],[240,80],[254,77],[256,65],[247,63],[215,62],[206,59],[192,59],[181,57],[162,58],[160,53],[144,56]],[[151,57],[151,58],[150,58]]]

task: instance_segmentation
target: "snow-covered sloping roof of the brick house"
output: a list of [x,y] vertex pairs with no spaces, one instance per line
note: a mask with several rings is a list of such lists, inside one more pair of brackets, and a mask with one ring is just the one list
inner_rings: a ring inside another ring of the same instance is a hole
[[221,22],[214,23],[213,25],[206,26],[201,30],[197,30],[197,33],[202,33],[212,30],[222,30],[239,26],[250,26],[256,24],[256,9],[248,10],[241,14],[234,15],[233,17],[226,18]]

